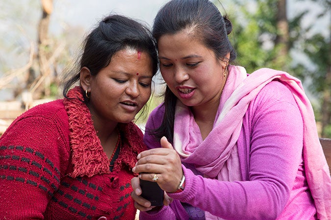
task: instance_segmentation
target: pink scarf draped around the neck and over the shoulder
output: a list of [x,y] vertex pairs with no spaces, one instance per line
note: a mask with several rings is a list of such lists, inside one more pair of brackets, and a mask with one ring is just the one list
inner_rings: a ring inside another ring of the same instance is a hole
[[[180,101],[177,102],[174,148],[182,156],[182,162],[196,164],[196,169],[205,177],[221,181],[241,180],[236,142],[243,116],[259,91],[274,79],[279,79],[291,90],[301,111],[307,182],[318,218],[331,218],[331,177],[319,142],[313,109],[300,80],[286,72],[262,68],[247,76],[243,67],[229,66],[229,77],[222,92],[213,130],[204,140],[192,112]],[[206,213],[206,219],[217,217]]]

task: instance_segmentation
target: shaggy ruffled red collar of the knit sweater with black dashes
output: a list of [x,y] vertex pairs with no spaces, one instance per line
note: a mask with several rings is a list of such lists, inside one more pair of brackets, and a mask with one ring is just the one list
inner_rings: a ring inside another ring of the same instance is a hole
[[[69,90],[68,99],[63,103],[69,117],[70,145],[74,170],[69,176],[94,176],[109,174],[109,160],[104,153],[100,139],[94,129],[90,110],[84,103],[83,89],[75,87]],[[118,124],[122,138],[120,155],[115,161],[113,172],[118,172],[124,165],[132,169],[136,156],[146,149],[142,141],[142,132],[133,123]]]

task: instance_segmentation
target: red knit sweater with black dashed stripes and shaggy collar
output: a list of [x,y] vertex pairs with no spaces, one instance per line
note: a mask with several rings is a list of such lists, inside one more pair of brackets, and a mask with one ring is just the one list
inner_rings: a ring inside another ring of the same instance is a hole
[[[80,88],[69,91],[82,99]],[[56,100],[26,111],[0,138],[0,219],[133,220],[131,169],[142,132],[120,124],[113,171],[85,104]]]

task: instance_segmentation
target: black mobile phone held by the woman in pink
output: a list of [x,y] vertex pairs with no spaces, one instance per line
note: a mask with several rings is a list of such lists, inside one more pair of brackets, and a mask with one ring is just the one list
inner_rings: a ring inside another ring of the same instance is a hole
[[141,196],[152,203],[152,206],[163,205],[164,191],[157,185],[156,182],[139,179]]

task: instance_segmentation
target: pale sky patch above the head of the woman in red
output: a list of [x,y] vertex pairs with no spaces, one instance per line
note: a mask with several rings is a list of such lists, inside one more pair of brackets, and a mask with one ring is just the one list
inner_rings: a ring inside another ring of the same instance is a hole
[[[152,25],[158,9],[168,0],[54,0],[51,21],[91,28],[111,12],[142,20]],[[59,24],[53,24],[58,31]]]

